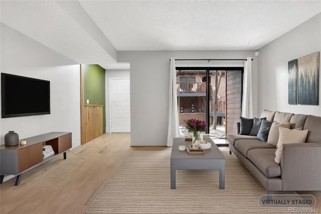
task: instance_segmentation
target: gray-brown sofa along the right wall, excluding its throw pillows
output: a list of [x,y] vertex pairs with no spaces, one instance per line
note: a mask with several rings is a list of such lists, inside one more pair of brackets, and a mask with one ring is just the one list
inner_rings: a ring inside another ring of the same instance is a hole
[[274,145],[257,136],[232,134],[228,136],[230,153],[259,180],[268,195],[272,191],[321,190],[321,116],[264,109],[261,117],[308,129],[305,143],[283,144],[280,163],[276,163]]

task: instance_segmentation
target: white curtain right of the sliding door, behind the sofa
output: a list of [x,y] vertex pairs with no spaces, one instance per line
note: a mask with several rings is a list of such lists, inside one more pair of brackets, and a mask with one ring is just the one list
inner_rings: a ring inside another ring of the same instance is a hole
[[243,117],[253,118],[252,101],[252,57],[247,57],[244,61],[242,114]]

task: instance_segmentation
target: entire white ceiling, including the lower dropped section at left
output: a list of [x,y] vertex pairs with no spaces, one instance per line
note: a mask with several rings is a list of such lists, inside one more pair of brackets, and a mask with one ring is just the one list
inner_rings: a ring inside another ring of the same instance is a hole
[[257,50],[321,0],[1,0],[1,22],[79,63],[125,68],[119,50]]

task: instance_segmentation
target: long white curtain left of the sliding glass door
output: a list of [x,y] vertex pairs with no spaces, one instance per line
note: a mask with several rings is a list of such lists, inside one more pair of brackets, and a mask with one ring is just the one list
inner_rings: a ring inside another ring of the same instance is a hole
[[170,100],[169,100],[169,130],[167,134],[167,146],[173,145],[173,137],[180,137],[180,120],[177,103],[177,83],[175,58],[171,57],[170,68]]

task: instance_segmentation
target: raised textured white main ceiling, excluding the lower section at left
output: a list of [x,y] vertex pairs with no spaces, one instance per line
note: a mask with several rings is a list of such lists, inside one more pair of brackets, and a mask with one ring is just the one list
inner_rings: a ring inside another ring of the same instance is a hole
[[321,1],[80,1],[117,50],[259,49]]

